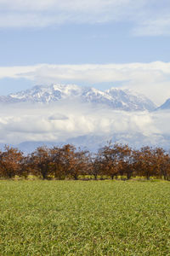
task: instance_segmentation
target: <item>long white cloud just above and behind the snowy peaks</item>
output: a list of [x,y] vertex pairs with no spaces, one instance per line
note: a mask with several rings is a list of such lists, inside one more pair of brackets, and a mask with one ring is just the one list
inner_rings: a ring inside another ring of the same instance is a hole
[[170,97],[170,63],[127,63],[105,65],[48,65],[0,67],[0,79],[25,78],[35,84],[122,82],[123,88],[136,90],[158,105]]

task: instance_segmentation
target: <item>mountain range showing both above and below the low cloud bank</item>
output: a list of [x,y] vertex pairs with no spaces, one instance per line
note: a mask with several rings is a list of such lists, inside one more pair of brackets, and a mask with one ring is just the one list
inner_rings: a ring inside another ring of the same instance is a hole
[[[0,96],[0,103],[3,105],[4,109],[5,106],[12,106],[16,103],[31,103],[31,106],[34,104],[40,104],[40,106],[46,106],[54,102],[62,102],[64,101],[65,104],[67,102],[82,102],[87,103],[89,102],[93,106],[104,106],[106,109],[115,109],[124,111],[127,113],[127,120],[128,112],[143,112],[145,111],[147,114],[156,113],[156,111],[160,110],[167,110],[170,109],[170,99],[162,104],[160,107],[157,108],[156,104],[150,101],[149,98],[146,96],[140,95],[139,93],[135,93],[131,90],[122,90],[117,88],[111,88],[110,90],[98,90],[93,87],[81,87],[76,84],[51,84],[48,86],[45,85],[37,85],[31,88],[30,90],[23,90],[17,93],[9,94],[8,96]],[[58,105],[60,106],[60,105]],[[62,105],[63,106],[63,105]],[[78,105],[80,106],[80,105]],[[19,105],[20,107],[20,105]],[[46,108],[46,107],[45,107]],[[27,109],[27,105],[26,105]],[[94,111],[94,108],[91,108]],[[54,108],[54,111],[58,111],[57,108]],[[120,119],[122,119],[122,112],[120,114]],[[161,113],[160,113],[161,114]],[[111,119],[114,120],[114,117],[111,116]],[[149,119],[144,119],[144,122],[148,122]],[[115,120],[114,120],[115,121]],[[139,122],[140,118],[134,119],[135,122]],[[3,125],[7,122],[7,120],[3,120]],[[15,124],[18,122],[15,122]],[[41,122],[41,120],[40,120]],[[53,121],[51,121],[53,123]],[[166,119],[167,122],[167,119]],[[126,122],[125,122],[126,123]],[[127,123],[126,123],[127,124]],[[161,122],[159,122],[161,125]],[[20,125],[19,125],[20,127]],[[131,127],[129,125],[129,127]],[[164,126],[166,127],[166,126]],[[9,128],[11,129],[11,127]],[[136,130],[139,130],[138,128]],[[12,131],[12,130],[11,130]],[[43,141],[23,141],[20,144],[14,145],[20,150],[29,153],[33,151],[35,148],[47,144],[48,147],[54,145],[62,145],[64,143],[73,143],[77,147],[81,146],[82,148],[87,147],[92,151],[96,151],[99,147],[104,146],[106,142],[112,140],[112,142],[117,143],[128,143],[132,147],[141,147],[143,145],[155,145],[161,146],[163,148],[170,148],[170,136],[167,134],[161,133],[159,129],[157,130],[158,133],[147,135],[142,133],[141,131],[131,132],[131,128],[127,129],[127,132],[117,132],[112,131],[107,135],[95,135],[95,134],[87,134],[84,136],[77,137],[69,137],[66,140],[57,140],[57,141],[47,141],[44,143]],[[10,132],[9,132],[10,133]],[[11,133],[10,133],[11,134]],[[32,137],[34,139],[34,137]],[[0,148],[3,148],[4,144],[0,143]]]

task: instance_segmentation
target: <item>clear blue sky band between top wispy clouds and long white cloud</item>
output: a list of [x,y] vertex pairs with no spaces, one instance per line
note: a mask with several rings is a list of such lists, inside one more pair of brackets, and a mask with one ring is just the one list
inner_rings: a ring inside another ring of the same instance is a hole
[[130,22],[1,29],[1,66],[169,61],[170,37],[135,36]]

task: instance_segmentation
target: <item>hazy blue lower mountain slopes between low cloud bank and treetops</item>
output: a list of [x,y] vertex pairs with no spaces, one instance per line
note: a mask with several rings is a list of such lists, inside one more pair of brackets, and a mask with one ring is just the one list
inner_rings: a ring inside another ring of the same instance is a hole
[[[67,143],[75,145],[77,148],[86,148],[91,152],[97,152],[97,150],[101,147],[104,147],[107,143],[122,143],[128,144],[132,148],[141,148],[145,145],[153,146],[153,147],[162,147],[166,150],[170,148],[170,137],[166,135],[153,134],[151,137],[144,136],[144,134],[140,132],[131,133],[114,133],[108,136],[96,136],[96,135],[86,135],[86,136],[78,136],[71,137],[65,141],[57,141],[57,142],[42,142],[42,141],[26,141],[23,143],[10,145],[16,148],[19,148],[25,154],[29,154],[33,152],[36,148],[41,146],[47,146],[48,148],[54,146],[63,146]],[[5,144],[0,143],[0,149],[3,150]]]

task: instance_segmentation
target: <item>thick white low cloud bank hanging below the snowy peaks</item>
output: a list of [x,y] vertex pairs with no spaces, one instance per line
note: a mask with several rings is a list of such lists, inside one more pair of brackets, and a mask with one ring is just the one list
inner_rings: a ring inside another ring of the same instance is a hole
[[57,102],[48,106],[16,104],[2,109],[0,143],[57,143],[72,137],[115,134],[123,135],[128,142],[130,134],[131,143],[133,137],[135,144],[138,133],[145,138],[145,143],[156,144],[159,137],[170,136],[170,112],[127,113],[78,102]]

